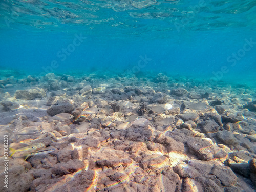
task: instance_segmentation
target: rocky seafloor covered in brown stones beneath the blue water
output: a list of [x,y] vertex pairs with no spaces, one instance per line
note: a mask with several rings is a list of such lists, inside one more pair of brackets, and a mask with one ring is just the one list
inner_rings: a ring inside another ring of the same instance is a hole
[[255,97],[163,74],[5,78],[0,131],[17,150],[5,190],[254,191]]

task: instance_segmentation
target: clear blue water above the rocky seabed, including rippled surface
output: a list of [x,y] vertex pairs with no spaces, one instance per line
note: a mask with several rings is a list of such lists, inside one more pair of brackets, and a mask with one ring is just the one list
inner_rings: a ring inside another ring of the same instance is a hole
[[256,85],[255,1],[2,0],[0,35],[0,67],[26,75],[162,72]]

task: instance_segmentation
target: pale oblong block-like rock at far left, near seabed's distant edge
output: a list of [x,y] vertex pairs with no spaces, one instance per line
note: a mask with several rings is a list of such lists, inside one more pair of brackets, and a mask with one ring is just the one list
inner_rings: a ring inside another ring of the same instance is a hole
[[26,90],[16,90],[14,96],[17,99],[33,100],[35,98],[46,97],[46,93],[44,89],[26,89]]

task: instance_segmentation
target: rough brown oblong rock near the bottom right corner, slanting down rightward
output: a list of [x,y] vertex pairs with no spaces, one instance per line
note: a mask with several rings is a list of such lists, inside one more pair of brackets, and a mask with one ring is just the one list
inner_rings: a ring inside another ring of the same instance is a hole
[[229,167],[214,166],[211,169],[211,174],[215,175],[223,186],[231,186],[237,183],[238,177],[232,172]]

